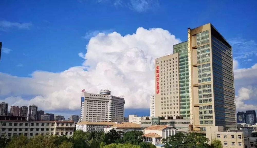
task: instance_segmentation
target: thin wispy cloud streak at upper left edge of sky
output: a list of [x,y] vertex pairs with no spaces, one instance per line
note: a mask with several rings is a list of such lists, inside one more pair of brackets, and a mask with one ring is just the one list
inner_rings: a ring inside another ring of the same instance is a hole
[[17,23],[17,22],[9,22],[9,21],[0,21],[0,28],[11,28],[16,27],[19,29],[29,29],[32,26],[31,23]]

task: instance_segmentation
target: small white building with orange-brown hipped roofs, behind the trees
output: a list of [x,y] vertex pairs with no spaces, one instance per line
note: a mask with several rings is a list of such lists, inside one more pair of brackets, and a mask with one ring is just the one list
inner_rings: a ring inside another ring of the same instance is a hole
[[152,125],[144,129],[144,141],[152,144],[161,144],[163,138],[175,135],[178,130],[169,125]]

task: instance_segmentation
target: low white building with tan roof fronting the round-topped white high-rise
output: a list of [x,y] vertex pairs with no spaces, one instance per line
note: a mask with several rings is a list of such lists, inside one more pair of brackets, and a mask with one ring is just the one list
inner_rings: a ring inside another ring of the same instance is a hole
[[89,122],[82,121],[76,124],[76,130],[82,130],[84,132],[91,131],[104,131],[104,128],[117,124],[117,122]]

